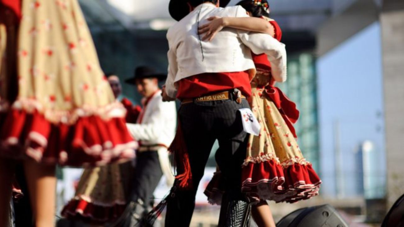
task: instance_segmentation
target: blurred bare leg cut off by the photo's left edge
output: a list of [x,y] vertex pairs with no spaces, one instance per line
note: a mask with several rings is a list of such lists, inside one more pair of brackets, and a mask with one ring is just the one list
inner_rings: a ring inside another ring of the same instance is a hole
[[11,183],[14,177],[14,162],[0,159],[0,226],[8,226],[10,220]]

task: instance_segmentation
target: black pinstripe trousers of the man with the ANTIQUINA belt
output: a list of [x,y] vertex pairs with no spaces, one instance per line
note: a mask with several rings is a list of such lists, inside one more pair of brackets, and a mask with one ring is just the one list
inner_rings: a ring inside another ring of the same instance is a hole
[[196,190],[210,150],[217,139],[215,159],[225,179],[227,191],[241,194],[241,166],[246,155],[247,133],[238,109],[249,108],[246,99],[195,102],[181,105],[179,120],[187,145],[192,173],[192,191],[177,190],[167,202],[165,226],[189,226],[195,208]]

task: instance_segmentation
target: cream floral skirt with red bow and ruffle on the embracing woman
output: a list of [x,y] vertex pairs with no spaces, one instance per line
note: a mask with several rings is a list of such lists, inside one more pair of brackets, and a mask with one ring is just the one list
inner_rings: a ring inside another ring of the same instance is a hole
[[[261,131],[248,141],[242,191],[253,200],[290,203],[318,195],[321,180],[295,139],[296,105],[279,88],[254,83],[250,105]],[[221,203],[221,184],[221,174],[216,172],[205,190],[210,203]]]

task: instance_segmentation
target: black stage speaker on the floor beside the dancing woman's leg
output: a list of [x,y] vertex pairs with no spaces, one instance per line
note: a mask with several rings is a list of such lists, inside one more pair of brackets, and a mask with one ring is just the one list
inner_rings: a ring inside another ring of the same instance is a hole
[[331,205],[312,206],[295,210],[284,216],[276,227],[348,227]]

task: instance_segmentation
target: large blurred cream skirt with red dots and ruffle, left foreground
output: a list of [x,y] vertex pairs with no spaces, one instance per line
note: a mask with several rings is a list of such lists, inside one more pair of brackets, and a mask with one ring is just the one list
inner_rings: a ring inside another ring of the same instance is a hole
[[134,158],[77,0],[0,11],[0,155],[70,166]]

